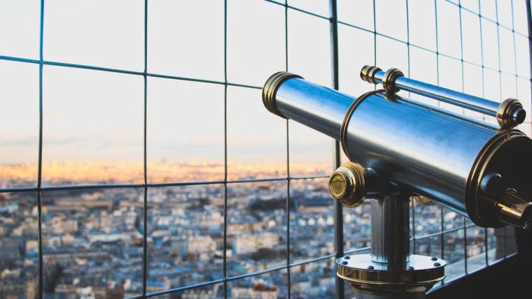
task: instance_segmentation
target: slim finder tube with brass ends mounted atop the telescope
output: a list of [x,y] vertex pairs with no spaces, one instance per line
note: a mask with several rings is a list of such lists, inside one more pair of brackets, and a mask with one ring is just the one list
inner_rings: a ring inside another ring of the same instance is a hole
[[507,99],[503,103],[489,101],[478,96],[463,94],[462,92],[406,78],[397,68],[391,68],[384,72],[375,66],[364,66],[362,71],[360,71],[360,78],[373,84],[382,83],[384,89],[394,91],[402,89],[430,99],[480,112],[484,115],[497,117],[501,127],[512,128],[523,123],[526,118],[526,111],[516,99]]

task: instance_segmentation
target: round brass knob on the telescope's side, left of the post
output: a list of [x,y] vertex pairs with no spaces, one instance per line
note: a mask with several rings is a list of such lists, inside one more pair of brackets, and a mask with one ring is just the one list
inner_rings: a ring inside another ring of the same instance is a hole
[[356,207],[365,199],[365,169],[360,164],[342,164],[329,177],[329,193],[346,207]]

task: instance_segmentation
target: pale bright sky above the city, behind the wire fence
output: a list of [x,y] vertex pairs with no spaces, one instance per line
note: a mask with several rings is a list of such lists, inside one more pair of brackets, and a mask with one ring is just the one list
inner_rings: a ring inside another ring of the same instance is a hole
[[[516,31],[526,34],[524,3],[514,1],[513,20]],[[328,1],[289,4],[328,15]],[[512,27],[510,4],[482,1],[480,13],[494,20],[498,12],[500,24]],[[400,68],[411,78],[493,101],[517,97],[531,111],[527,38],[498,30],[466,10],[460,13],[448,1],[437,1],[437,15],[433,1],[410,0],[408,15],[405,1],[377,0],[375,5],[376,28],[372,1],[338,1],[339,20],[346,23],[339,24],[342,92],[358,96],[371,90],[358,72],[377,61],[383,69]],[[462,5],[479,10],[477,1]],[[262,87],[269,75],[286,70],[288,59],[288,71],[330,87],[328,20],[288,10],[286,51],[283,6],[228,0],[227,17],[225,70],[223,1],[148,1],[148,73],[218,83],[227,74],[228,82]],[[0,56],[39,59],[39,20],[40,1],[0,0]],[[47,0],[43,28],[45,61],[144,71],[144,1]],[[393,39],[379,35],[374,41],[374,29]],[[407,40],[446,56],[408,49],[400,42]],[[462,54],[472,64],[447,57]],[[500,64],[501,71],[522,78],[475,64],[494,69]],[[38,82],[37,64],[0,59],[0,163],[37,162]],[[223,163],[224,86],[154,77],[146,84],[148,161]],[[265,110],[258,88],[228,87],[227,132],[228,161],[286,161],[286,122]],[[290,160],[331,161],[330,138],[295,122],[288,135]],[[43,161],[141,161],[143,143],[143,76],[43,67]]]

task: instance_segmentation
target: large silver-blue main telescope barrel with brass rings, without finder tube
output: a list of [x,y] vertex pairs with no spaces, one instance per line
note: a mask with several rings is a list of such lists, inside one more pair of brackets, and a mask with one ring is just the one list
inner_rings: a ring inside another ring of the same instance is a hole
[[340,140],[351,161],[479,226],[531,225],[532,140],[521,131],[384,91],[355,99],[286,72],[267,80],[262,101]]

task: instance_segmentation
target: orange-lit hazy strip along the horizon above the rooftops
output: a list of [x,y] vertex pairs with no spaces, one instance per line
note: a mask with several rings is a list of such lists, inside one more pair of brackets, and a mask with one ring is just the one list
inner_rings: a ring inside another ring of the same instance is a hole
[[[54,183],[134,183],[144,182],[144,163],[133,161],[45,161],[44,184]],[[223,163],[148,162],[148,182],[191,182],[224,180]],[[290,175],[320,175],[332,170],[330,163],[290,162]],[[0,180],[36,180],[38,165],[22,163],[0,165]],[[228,180],[261,177],[286,177],[286,163],[230,162]]]

